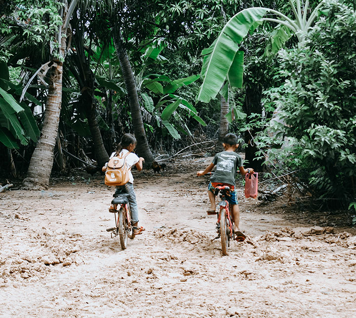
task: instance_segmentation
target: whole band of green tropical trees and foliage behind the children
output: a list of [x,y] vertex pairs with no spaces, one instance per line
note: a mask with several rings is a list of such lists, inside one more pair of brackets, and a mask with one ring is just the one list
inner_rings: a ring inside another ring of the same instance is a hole
[[150,166],[217,139],[212,154],[232,131],[266,176],[354,206],[353,1],[13,0],[0,11],[0,173],[25,188],[101,166],[125,132]]

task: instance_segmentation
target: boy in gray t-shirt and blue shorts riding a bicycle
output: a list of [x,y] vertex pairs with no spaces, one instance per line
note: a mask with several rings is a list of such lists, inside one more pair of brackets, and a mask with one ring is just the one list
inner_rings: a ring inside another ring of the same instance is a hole
[[237,174],[237,168],[241,175],[246,173],[254,173],[252,168],[245,169],[242,165],[242,159],[237,153],[235,153],[238,148],[237,135],[229,133],[224,137],[223,146],[225,151],[217,153],[213,161],[205,168],[205,170],[200,170],[197,172],[198,176],[202,176],[210,172],[216,165],[216,170],[214,174],[210,177],[210,183],[208,186],[208,196],[210,200],[210,207],[206,211],[208,214],[215,214],[216,203],[215,203],[215,187],[218,185],[227,185],[230,187],[230,197],[227,200],[232,206],[232,213],[234,218],[234,232],[237,241],[243,241],[246,236],[239,229],[240,220],[240,210],[238,208],[237,193],[236,193],[236,183],[235,177]]

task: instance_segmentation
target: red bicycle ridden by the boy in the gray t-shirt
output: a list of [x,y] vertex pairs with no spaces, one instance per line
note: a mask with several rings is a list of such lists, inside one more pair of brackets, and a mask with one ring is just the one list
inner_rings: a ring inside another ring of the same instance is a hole
[[226,199],[226,196],[229,196],[230,187],[226,185],[218,185],[215,187],[214,195],[217,196],[220,192],[221,201],[218,203],[219,212],[216,213],[218,220],[216,222],[216,229],[218,236],[214,239],[221,238],[221,249],[223,255],[229,255],[228,247],[230,247],[230,240],[235,239],[234,233],[234,218],[231,211],[231,205]]

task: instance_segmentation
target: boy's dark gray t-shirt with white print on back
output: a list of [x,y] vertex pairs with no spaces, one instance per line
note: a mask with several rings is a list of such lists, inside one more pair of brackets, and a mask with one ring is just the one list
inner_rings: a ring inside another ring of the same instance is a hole
[[216,170],[211,176],[211,182],[228,183],[235,186],[237,169],[242,166],[242,159],[237,153],[222,151],[217,153],[213,159]]

